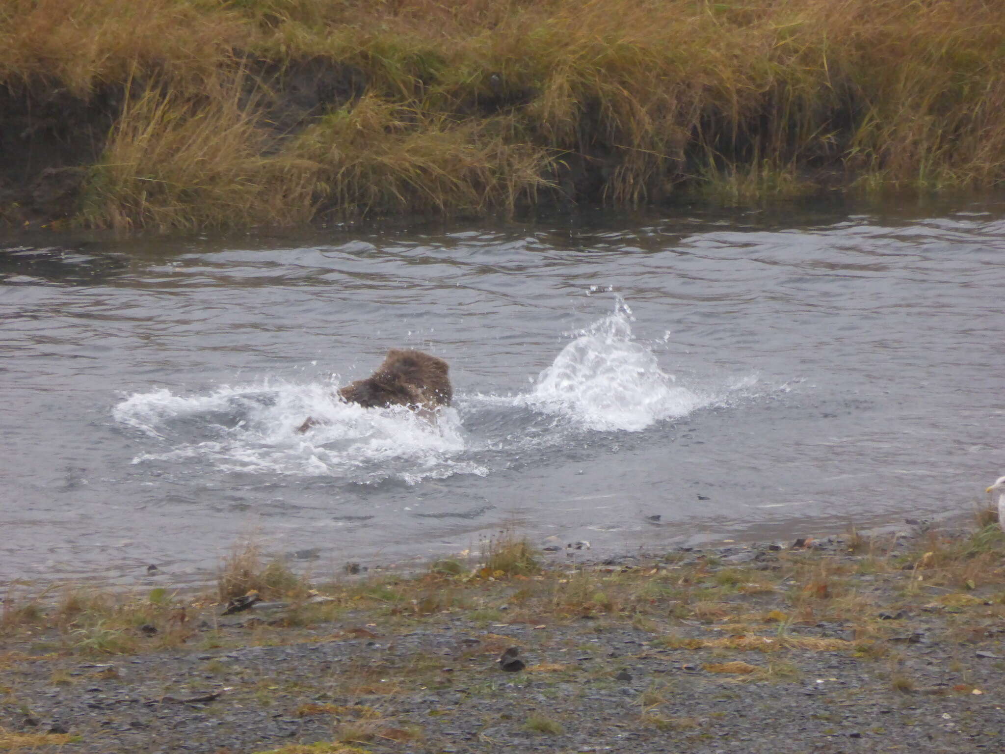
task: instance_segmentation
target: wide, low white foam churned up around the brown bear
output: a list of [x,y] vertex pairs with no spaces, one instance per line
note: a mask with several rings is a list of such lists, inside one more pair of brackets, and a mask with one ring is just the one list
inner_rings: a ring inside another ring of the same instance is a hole
[[[403,407],[373,410],[343,403],[326,384],[263,382],[223,386],[202,395],[159,389],[129,396],[114,415],[170,444],[161,452],[138,454],[134,463],[199,461],[224,472],[361,483],[397,478],[414,484],[453,474],[486,474],[482,466],[454,457],[464,449],[464,438],[453,409],[441,410],[431,423]],[[308,416],[319,424],[297,432]]]

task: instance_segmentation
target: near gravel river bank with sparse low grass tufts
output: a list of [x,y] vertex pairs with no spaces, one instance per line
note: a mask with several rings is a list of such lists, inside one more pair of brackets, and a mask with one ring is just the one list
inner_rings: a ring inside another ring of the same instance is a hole
[[[243,550],[213,593],[8,599],[0,745],[994,751],[990,518],[603,562],[504,533],[471,560],[325,586]],[[264,601],[223,614],[249,590]]]

